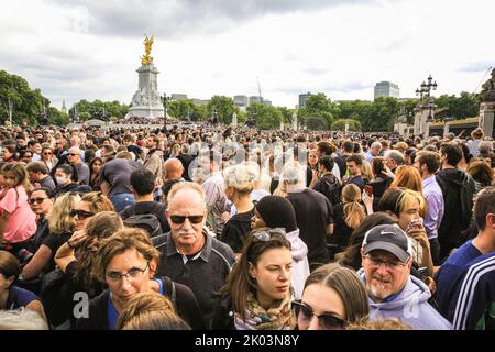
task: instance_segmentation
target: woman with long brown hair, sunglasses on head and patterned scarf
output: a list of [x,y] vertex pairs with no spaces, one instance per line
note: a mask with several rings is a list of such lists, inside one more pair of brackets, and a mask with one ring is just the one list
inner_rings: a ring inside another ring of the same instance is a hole
[[213,330],[287,330],[294,326],[290,242],[284,229],[257,229],[220,289]]

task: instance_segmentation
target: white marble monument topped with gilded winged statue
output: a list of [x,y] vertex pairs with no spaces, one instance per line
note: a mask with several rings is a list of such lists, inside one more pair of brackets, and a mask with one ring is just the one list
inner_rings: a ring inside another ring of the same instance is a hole
[[139,75],[139,88],[132,97],[132,106],[125,118],[163,118],[165,116],[162,100],[158,94],[158,69],[150,56],[154,37],[144,40],[145,55],[141,58],[141,67],[136,69]]

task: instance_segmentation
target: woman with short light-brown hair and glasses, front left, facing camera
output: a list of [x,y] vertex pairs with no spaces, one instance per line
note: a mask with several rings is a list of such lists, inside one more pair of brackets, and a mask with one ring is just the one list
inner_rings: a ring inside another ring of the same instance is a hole
[[166,296],[194,329],[204,329],[201,310],[190,288],[166,276],[153,278],[158,257],[158,250],[141,229],[124,228],[101,240],[94,275],[108,289],[89,301],[88,315],[77,320],[76,329],[114,330],[129,300],[143,292]]

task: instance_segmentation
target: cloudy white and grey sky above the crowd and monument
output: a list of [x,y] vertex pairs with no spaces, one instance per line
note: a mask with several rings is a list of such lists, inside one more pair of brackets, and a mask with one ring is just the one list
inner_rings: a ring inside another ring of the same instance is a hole
[[144,34],[158,89],[209,99],[301,92],[373,99],[381,80],[414,97],[479,91],[495,66],[493,0],[16,0],[0,6],[0,69],[52,100],[130,102]]

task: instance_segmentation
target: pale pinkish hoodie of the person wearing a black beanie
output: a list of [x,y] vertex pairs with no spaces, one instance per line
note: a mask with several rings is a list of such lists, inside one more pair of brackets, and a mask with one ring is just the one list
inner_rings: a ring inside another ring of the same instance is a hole
[[309,276],[308,246],[299,238],[299,229],[288,232],[285,235],[290,242],[293,255],[292,286],[296,299],[302,297],[306,278]]

